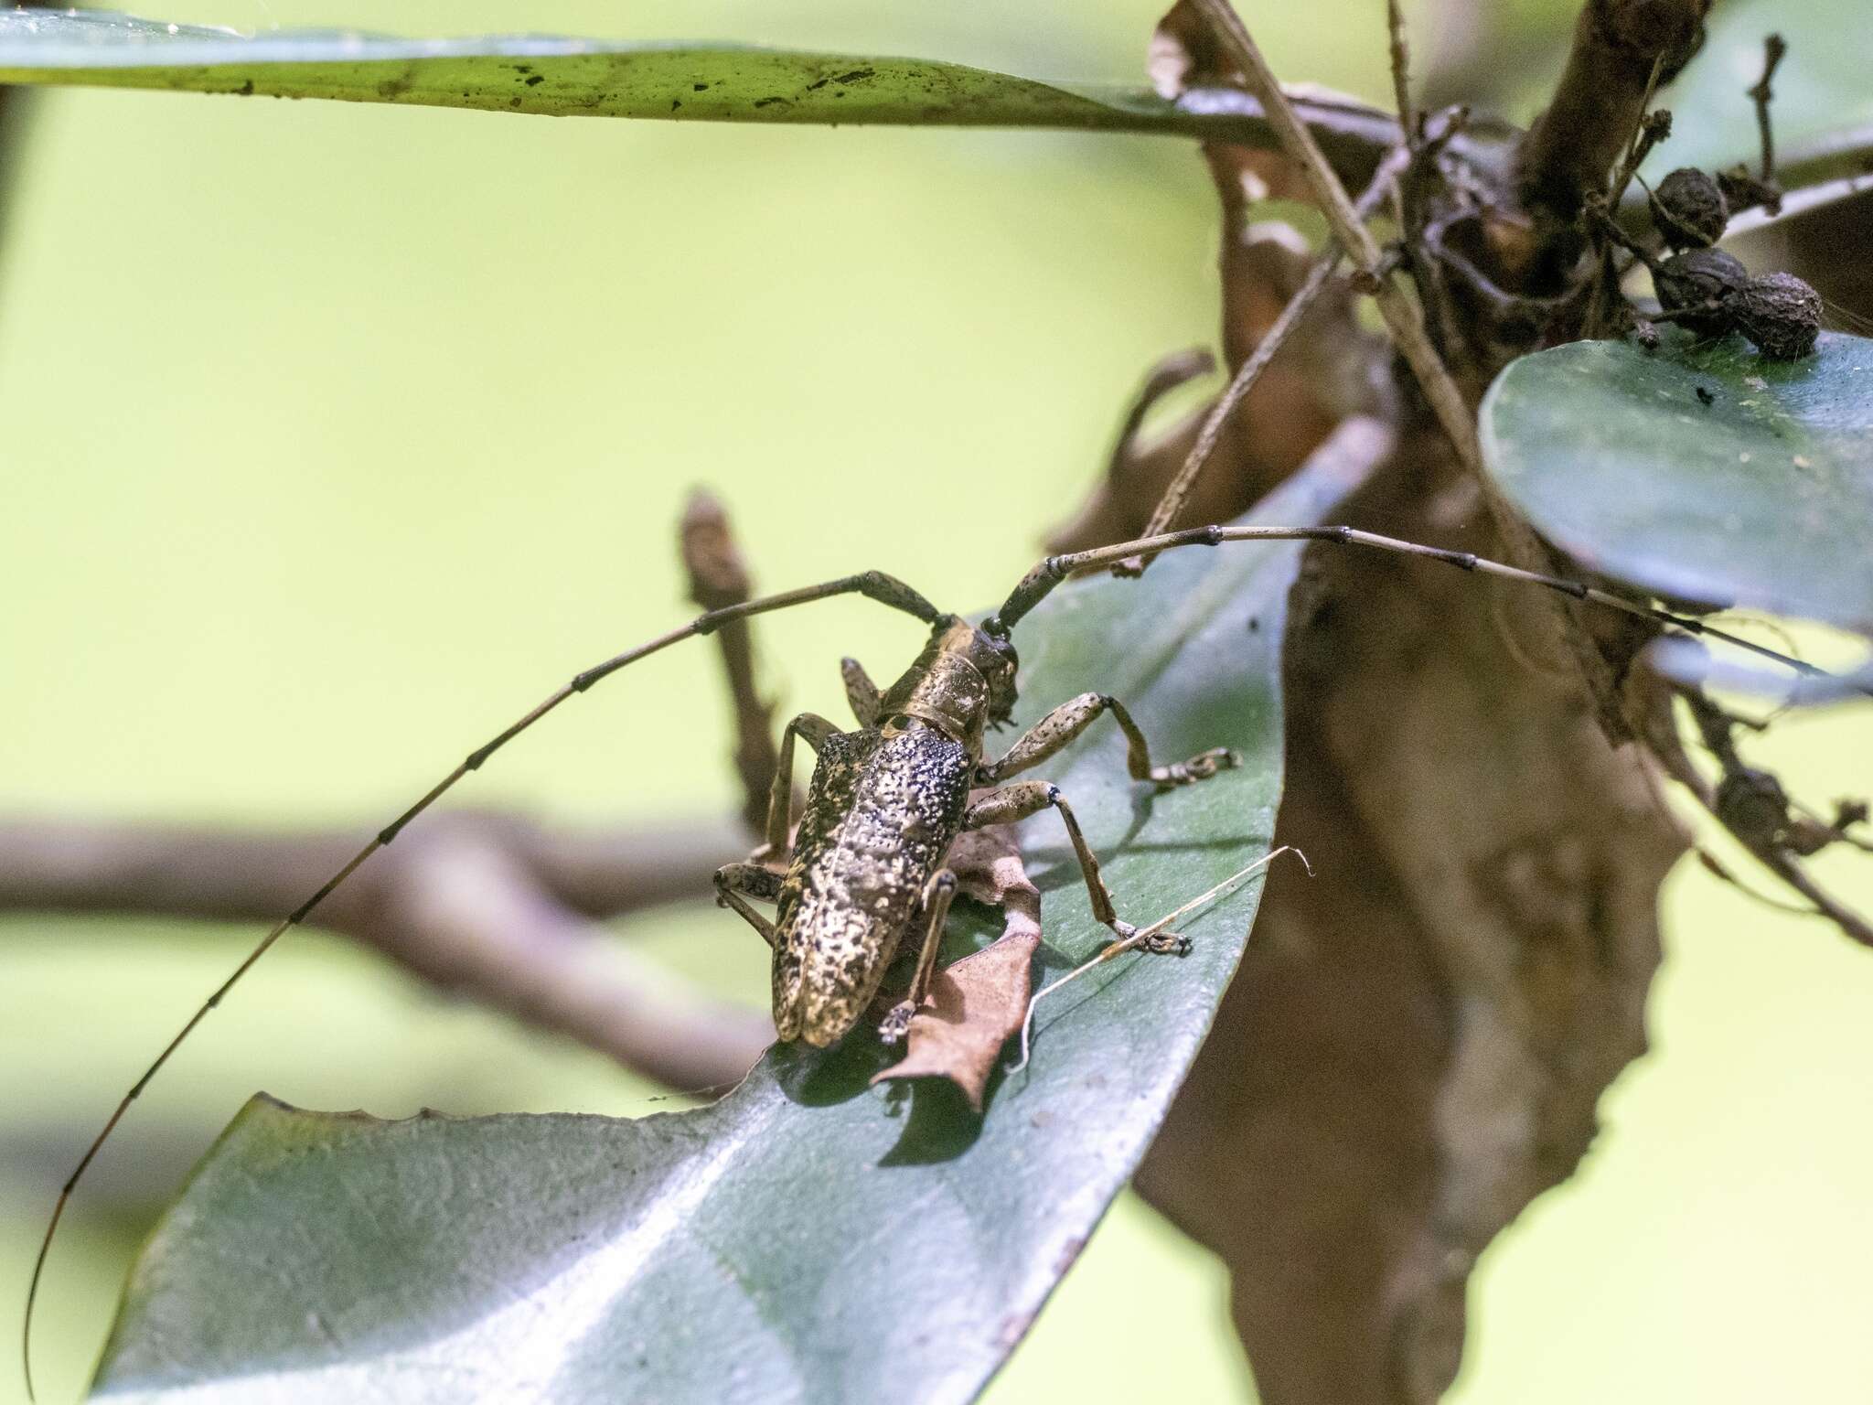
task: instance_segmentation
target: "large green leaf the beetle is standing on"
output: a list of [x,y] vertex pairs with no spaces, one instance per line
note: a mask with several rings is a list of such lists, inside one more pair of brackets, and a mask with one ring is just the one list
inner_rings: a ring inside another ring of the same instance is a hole
[[[1319,521],[1349,487],[1311,470],[1262,521]],[[1296,562],[1270,543],[1171,553],[1137,583],[1062,586],[1017,629],[1023,721],[1111,691],[1165,757],[1244,753],[1154,794],[1107,725],[1047,768],[1131,920],[1268,854]],[[1054,817],[1028,822],[1025,854],[1053,978],[1105,931]],[[635,1122],[378,1122],[258,1098],[146,1246],[96,1388],[200,1405],[970,1399],[1143,1156],[1257,894],[1182,922],[1191,955],[1126,955],[1041,1004],[1032,1064],[996,1073],[980,1120],[948,1083],[869,1088],[895,1060],[869,1032],[772,1049],[721,1103]],[[1122,1306],[1114,1330],[1148,1334],[1150,1304]]]

